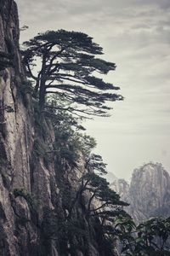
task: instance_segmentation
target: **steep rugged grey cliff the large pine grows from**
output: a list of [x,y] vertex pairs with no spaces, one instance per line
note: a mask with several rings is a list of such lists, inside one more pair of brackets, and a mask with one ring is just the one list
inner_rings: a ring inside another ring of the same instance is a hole
[[0,255],[104,255],[85,202],[74,201],[84,161],[71,166],[57,159],[53,126],[36,110],[30,90],[17,7],[0,0]]

